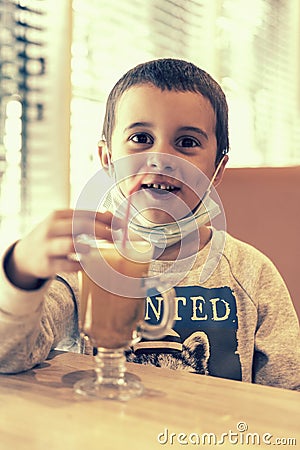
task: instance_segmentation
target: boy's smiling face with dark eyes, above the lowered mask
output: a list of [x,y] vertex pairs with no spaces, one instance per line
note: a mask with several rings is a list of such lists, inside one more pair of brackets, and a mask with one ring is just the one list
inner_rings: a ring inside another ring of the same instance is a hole
[[[173,221],[174,217],[165,206],[170,206],[174,196],[175,200],[182,201],[177,201],[179,215],[178,204],[184,203],[190,210],[197,206],[199,195],[190,186],[197,179],[204,192],[208,184],[206,177],[211,179],[215,171],[215,127],[213,107],[200,93],[162,91],[147,84],[134,86],[122,95],[116,106],[109,151],[112,162],[138,155],[128,158],[136,164],[136,169],[130,168],[130,173],[147,172],[148,175],[142,180],[140,195],[133,202],[139,210],[143,209],[147,219],[155,223]],[[104,148],[99,150],[102,163],[107,164],[107,152]],[[194,173],[189,170],[191,164]],[[224,167],[225,164],[226,161]],[[197,169],[206,177],[197,176]],[[122,181],[120,186],[125,195],[138,176]],[[186,211],[182,211],[182,216],[185,215]]]

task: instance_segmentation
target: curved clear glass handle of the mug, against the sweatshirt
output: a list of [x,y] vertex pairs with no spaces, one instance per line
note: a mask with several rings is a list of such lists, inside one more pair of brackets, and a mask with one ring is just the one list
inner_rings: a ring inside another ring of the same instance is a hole
[[161,293],[164,301],[164,312],[159,325],[149,325],[145,321],[139,324],[137,333],[140,338],[157,339],[164,337],[172,329],[175,317],[175,289],[172,287]]

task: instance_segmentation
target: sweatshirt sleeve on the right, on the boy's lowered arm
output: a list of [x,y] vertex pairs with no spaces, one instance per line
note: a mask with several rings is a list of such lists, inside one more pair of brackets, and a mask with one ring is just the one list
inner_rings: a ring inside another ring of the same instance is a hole
[[299,322],[287,287],[266,259],[257,284],[253,381],[300,390]]

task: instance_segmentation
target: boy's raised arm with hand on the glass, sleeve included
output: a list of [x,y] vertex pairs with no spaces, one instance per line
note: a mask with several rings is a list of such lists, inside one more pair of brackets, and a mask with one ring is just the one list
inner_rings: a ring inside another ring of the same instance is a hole
[[[76,229],[111,240],[111,221],[110,213],[77,211]],[[56,211],[0,260],[0,372],[29,369],[61,339],[76,335],[74,289],[81,266],[69,258],[72,231],[73,211]],[[88,249],[83,245],[82,251]],[[57,273],[69,273],[71,283]]]

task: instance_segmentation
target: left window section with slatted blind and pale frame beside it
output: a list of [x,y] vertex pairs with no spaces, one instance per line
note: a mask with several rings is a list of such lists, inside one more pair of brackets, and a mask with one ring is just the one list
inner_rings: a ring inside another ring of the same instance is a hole
[[54,3],[0,2],[0,229],[7,239],[69,205],[70,2]]

